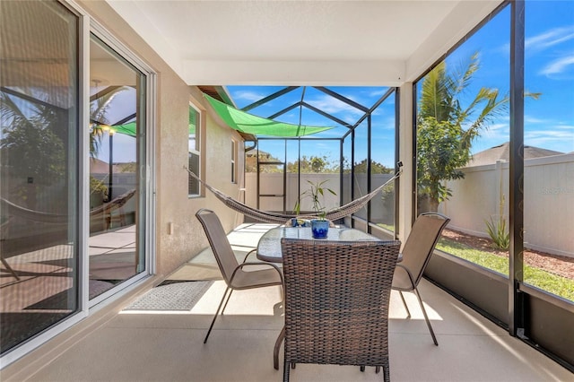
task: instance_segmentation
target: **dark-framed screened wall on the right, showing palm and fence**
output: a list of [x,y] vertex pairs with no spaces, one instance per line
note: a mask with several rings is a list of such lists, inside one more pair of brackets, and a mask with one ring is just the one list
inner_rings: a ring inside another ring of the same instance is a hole
[[572,25],[568,2],[503,4],[415,83],[416,213],[451,218],[431,279],[564,364],[574,359]]

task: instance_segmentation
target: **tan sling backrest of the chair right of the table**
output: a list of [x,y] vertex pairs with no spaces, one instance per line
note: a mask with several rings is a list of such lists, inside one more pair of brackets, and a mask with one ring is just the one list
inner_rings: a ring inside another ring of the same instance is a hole
[[448,221],[450,219],[440,213],[421,213],[414,221],[413,229],[404,242],[403,261],[400,263],[413,275],[414,287],[421,281],[424,268],[429,264]]

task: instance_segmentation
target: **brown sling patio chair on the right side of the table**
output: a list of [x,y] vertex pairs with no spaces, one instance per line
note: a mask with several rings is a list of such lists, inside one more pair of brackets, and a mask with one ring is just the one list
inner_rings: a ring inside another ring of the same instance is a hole
[[413,291],[421,305],[422,315],[429,326],[432,341],[435,345],[439,346],[437,337],[432,330],[431,321],[427,316],[427,311],[422,304],[421,293],[417,290],[417,286],[422,279],[424,268],[431,260],[432,252],[439,241],[440,233],[447,226],[450,219],[440,213],[421,213],[414,221],[413,229],[406,239],[403,247],[403,260],[396,265],[395,276],[393,277],[393,289],[399,291],[401,300],[403,300],[404,308],[408,314],[407,318],[411,317],[411,312],[406,306],[403,291]]

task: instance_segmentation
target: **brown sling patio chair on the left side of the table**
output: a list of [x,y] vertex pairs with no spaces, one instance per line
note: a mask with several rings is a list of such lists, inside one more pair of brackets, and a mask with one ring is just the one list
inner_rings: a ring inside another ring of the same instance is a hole
[[[207,343],[207,338],[212,332],[213,324],[215,319],[219,315],[220,309],[223,311],[227,307],[227,302],[222,308],[223,300],[227,296],[227,301],[230,300],[231,293],[234,290],[247,290],[254,288],[262,288],[273,285],[283,285],[283,273],[277,265],[271,263],[263,262],[246,262],[248,256],[255,252],[255,249],[248,252],[248,254],[243,259],[243,262],[239,264],[233,249],[231,248],[230,242],[225,235],[225,231],[222,227],[222,222],[219,220],[217,215],[211,210],[201,209],[196,213],[197,219],[201,222],[204,227],[205,235],[209,240],[209,244],[212,247],[213,255],[217,260],[217,265],[222,272],[223,280],[227,284],[227,289],[223,293],[222,301],[213,316],[212,325],[209,326],[207,334],[205,334],[204,343]],[[248,266],[261,265],[269,266],[270,269],[257,269],[255,271],[245,271],[243,268]],[[230,292],[229,295],[227,292]]]

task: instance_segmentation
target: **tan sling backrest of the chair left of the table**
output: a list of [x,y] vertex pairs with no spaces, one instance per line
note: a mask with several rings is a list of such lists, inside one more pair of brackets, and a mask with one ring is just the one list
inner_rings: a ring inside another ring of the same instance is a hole
[[209,240],[209,245],[212,247],[213,255],[215,260],[217,260],[223,279],[229,285],[231,274],[238,267],[239,262],[227,239],[225,230],[223,230],[222,221],[219,220],[219,217],[212,210],[206,208],[197,211],[196,217],[204,227],[205,235]]

